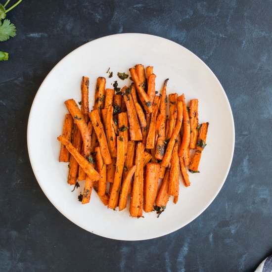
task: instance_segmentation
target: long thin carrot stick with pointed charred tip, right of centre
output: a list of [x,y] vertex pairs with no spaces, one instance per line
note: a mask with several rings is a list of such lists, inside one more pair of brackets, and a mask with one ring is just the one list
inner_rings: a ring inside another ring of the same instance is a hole
[[160,104],[160,114],[163,116],[162,124],[159,129],[159,136],[156,145],[156,159],[162,160],[165,152],[165,125],[166,125],[166,86],[168,79],[164,81],[162,96],[161,96],[161,104]]

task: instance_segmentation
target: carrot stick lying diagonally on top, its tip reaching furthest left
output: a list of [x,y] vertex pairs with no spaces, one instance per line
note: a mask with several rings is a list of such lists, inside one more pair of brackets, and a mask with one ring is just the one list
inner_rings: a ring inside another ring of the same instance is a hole
[[65,139],[63,136],[58,136],[57,139],[63,143],[71,155],[76,159],[80,167],[84,172],[91,178],[92,181],[99,180],[99,174],[94,170],[92,165],[77,151],[70,141]]

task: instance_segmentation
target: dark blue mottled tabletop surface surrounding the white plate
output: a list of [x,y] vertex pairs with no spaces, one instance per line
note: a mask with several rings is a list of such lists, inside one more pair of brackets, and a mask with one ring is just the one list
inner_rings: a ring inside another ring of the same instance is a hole
[[[237,272],[271,254],[271,14],[271,0],[24,0],[9,12],[17,36],[0,43],[10,53],[0,62],[0,271]],[[53,66],[80,45],[129,32],[199,56],[223,85],[236,130],[232,167],[210,207],[138,242],[93,235],[62,216],[34,177],[26,141],[32,101]]]

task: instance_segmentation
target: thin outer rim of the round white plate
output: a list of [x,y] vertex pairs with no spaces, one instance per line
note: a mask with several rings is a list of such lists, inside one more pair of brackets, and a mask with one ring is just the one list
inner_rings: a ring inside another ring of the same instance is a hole
[[[62,209],[60,209],[59,207],[57,207],[57,205],[55,205],[55,201],[46,194],[45,192],[45,188],[42,184],[42,182],[39,182],[39,179],[38,179],[38,173],[34,170],[35,167],[34,167],[34,161],[33,161],[33,158],[31,156],[31,147],[30,147],[30,124],[31,124],[31,121],[32,121],[32,116],[33,116],[33,111],[34,111],[34,105],[36,103],[36,100],[37,100],[37,97],[39,95],[39,92],[41,91],[43,85],[45,84],[46,82],[46,79],[50,76],[50,74],[53,72],[53,70],[58,66],[60,65],[60,63],[62,61],[64,61],[64,59],[66,59],[70,54],[74,53],[75,51],[77,50],[80,50],[82,47],[84,46],[87,46],[89,45],[90,43],[94,43],[96,42],[97,40],[101,40],[101,39],[108,39],[110,37],[116,37],[116,36],[149,36],[149,37],[152,37],[152,38],[159,38],[159,39],[163,39],[167,42],[170,42],[170,43],[173,43],[175,45],[179,45],[182,47],[182,49],[185,49],[185,51],[187,51],[187,53],[189,53],[192,57],[198,59],[202,64],[204,64],[204,66],[209,70],[209,72],[212,74],[212,76],[214,77],[214,79],[217,81],[219,87],[221,88],[221,91],[223,92],[224,96],[225,96],[225,99],[227,100],[227,108],[228,108],[228,111],[230,113],[230,117],[231,117],[231,129],[232,129],[232,133],[231,133],[231,136],[232,136],[232,142],[231,142],[231,159],[228,163],[228,166],[227,166],[227,171],[226,171],[226,174],[225,174],[225,177],[223,179],[223,181],[221,182],[218,190],[216,191],[216,193],[214,194],[214,196],[211,198],[211,200],[208,202],[208,204],[206,204],[199,213],[197,213],[191,220],[187,220],[183,225],[180,225],[179,227],[172,227],[172,228],[169,228],[169,230],[167,230],[164,234],[156,234],[156,235],[153,235],[152,237],[150,238],[137,238],[137,239],[134,239],[134,238],[131,238],[131,239],[122,239],[122,238],[115,238],[115,237],[110,237],[109,235],[105,235],[105,234],[101,234],[101,233],[96,233],[96,232],[93,232],[93,231],[90,231],[89,229],[83,227],[80,223],[78,222],[75,222],[73,219],[71,219],[68,215],[66,215]],[[178,229],[181,229],[182,227],[185,227],[186,225],[188,225],[189,223],[193,222],[197,217],[199,217],[211,204],[212,202],[215,200],[215,198],[218,196],[219,192],[221,191],[223,185],[225,184],[226,180],[227,180],[227,176],[228,176],[228,173],[229,173],[229,170],[230,170],[230,167],[231,167],[231,164],[232,164],[232,160],[233,160],[233,154],[234,154],[234,147],[235,147],[235,126],[234,126],[234,119],[233,119],[233,113],[232,113],[232,110],[231,110],[231,107],[230,107],[230,103],[229,103],[229,100],[227,98],[227,93],[226,91],[224,90],[222,84],[220,83],[219,79],[216,77],[216,75],[214,74],[214,72],[210,69],[210,67],[202,60],[200,59],[196,54],[194,54],[192,51],[190,51],[189,49],[187,49],[186,47],[174,42],[174,41],[171,41],[169,39],[166,39],[166,38],[163,38],[163,37],[160,37],[160,36],[156,36],[156,35],[151,35],[151,34],[144,34],[144,33],[119,33],[119,34],[113,34],[113,35],[107,35],[107,36],[103,36],[103,37],[100,37],[100,38],[97,38],[97,39],[94,39],[90,42],[87,42],[83,45],[80,45],[79,47],[75,48],[74,50],[72,50],[70,53],[68,53],[67,55],[65,55],[61,60],[59,60],[56,65],[53,66],[53,68],[49,71],[49,73],[46,75],[45,79],[43,80],[42,84],[40,85],[38,91],[36,92],[35,94],[35,97],[33,99],[33,102],[32,102],[32,105],[31,105],[31,109],[30,109],[30,112],[29,112],[29,117],[28,117],[28,124],[27,124],[27,149],[28,149],[28,155],[29,155],[29,160],[30,160],[30,164],[31,164],[31,167],[32,167],[32,171],[34,173],[34,176],[38,182],[38,184],[40,185],[41,189],[43,190],[45,196],[47,197],[47,199],[51,202],[51,204],[64,216],[66,217],[69,221],[71,221],[73,224],[77,225],[78,227],[81,227],[83,229],[85,229],[86,231],[88,232],[91,232],[93,234],[96,234],[96,235],[99,235],[101,237],[105,237],[105,238],[110,238],[110,239],[114,239],[114,240],[123,240],[123,241],[140,241],[140,240],[149,240],[149,239],[154,239],[154,238],[158,238],[158,237],[162,237],[162,236],[165,236],[165,235],[168,235],[172,232],[175,232],[177,231]]]

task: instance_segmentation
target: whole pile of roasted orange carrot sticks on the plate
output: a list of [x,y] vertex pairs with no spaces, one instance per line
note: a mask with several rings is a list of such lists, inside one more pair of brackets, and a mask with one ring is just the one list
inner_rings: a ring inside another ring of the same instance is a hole
[[167,96],[168,79],[156,95],[153,66],[145,71],[137,64],[130,74],[132,84],[117,92],[99,77],[91,111],[89,78],[83,77],[81,108],[65,101],[69,114],[57,139],[59,161],[69,162],[68,183],[85,181],[82,204],[90,202],[92,188],[110,209],[125,209],[130,197],[130,215],[139,218],[143,211],[163,211],[170,196],[177,203],[180,172],[186,187],[187,169],[199,173],[209,123],[198,124],[198,99],[187,107],[184,94]]

